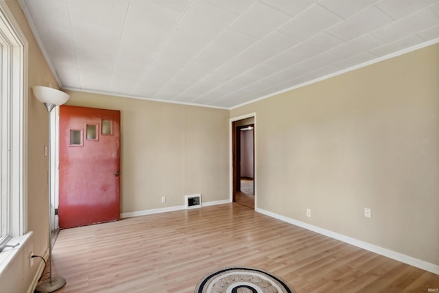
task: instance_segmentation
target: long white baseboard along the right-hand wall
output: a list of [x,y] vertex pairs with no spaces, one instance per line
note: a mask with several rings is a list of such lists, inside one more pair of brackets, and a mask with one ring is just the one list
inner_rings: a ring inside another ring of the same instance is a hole
[[340,233],[335,233],[333,231],[320,228],[318,226],[313,226],[311,224],[300,222],[298,220],[294,220],[292,218],[287,218],[283,215],[278,215],[277,213],[272,213],[271,211],[265,211],[264,209],[255,209],[258,213],[263,213],[264,215],[268,215],[272,218],[276,218],[278,220],[281,220],[283,222],[287,222],[289,224],[293,224],[302,228],[305,228],[309,231],[313,231],[337,240],[340,240],[342,242],[346,242],[348,244],[352,244],[353,246],[357,246],[359,248],[363,248],[369,251],[372,251],[372,253],[377,253],[379,255],[383,255],[385,257],[389,257],[391,259],[395,259],[397,261],[401,261],[403,263],[407,263],[410,266],[415,266],[416,268],[421,268],[423,270],[427,270],[429,272],[433,272],[434,274],[439,274],[439,266],[434,263],[429,263],[427,261],[423,261],[421,259],[416,259],[414,257],[410,257],[408,255],[403,255],[402,253],[396,253],[396,251],[382,248],[380,246],[376,246],[375,244],[370,244],[367,242],[363,242],[361,240],[355,239],[353,237],[348,237],[346,235],[342,235]]

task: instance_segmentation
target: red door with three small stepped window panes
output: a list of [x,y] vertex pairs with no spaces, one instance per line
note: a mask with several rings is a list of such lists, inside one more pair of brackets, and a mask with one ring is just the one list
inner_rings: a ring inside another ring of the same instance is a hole
[[60,228],[119,220],[120,112],[60,106]]

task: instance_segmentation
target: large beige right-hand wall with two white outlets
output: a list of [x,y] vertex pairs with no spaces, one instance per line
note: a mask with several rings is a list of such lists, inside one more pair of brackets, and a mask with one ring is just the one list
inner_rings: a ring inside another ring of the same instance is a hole
[[439,265],[438,84],[436,44],[231,110],[259,208]]

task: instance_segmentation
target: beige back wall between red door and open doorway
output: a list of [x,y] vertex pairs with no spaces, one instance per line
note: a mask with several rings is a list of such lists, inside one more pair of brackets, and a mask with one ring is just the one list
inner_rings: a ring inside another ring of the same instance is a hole
[[67,93],[72,106],[121,110],[121,213],[182,206],[188,194],[228,200],[228,110]]

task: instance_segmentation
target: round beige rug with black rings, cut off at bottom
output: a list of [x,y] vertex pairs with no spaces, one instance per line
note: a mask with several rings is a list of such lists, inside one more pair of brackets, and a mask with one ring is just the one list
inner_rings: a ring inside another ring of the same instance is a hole
[[279,277],[257,268],[224,268],[204,277],[195,293],[294,293]]

